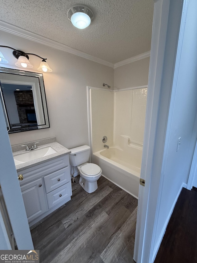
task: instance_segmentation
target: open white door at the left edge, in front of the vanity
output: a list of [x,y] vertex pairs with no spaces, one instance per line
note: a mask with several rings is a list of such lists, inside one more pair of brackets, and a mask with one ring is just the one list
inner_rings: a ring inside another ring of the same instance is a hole
[[[18,249],[34,249],[10,140],[0,103],[0,185]],[[5,229],[0,220],[0,229]],[[2,230],[3,231],[3,230]],[[4,236],[6,238],[5,232]],[[2,238],[2,236],[1,236]],[[3,249],[0,247],[0,249]]]

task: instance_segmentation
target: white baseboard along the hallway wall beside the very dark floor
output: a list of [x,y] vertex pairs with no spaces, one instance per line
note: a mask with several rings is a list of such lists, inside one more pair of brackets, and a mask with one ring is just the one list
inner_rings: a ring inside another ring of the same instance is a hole
[[157,252],[158,252],[159,247],[160,247],[160,245],[161,245],[161,241],[162,241],[163,236],[164,236],[164,234],[165,234],[165,232],[166,232],[166,228],[167,228],[168,222],[169,222],[169,220],[170,220],[170,218],[171,218],[172,212],[173,212],[173,210],[174,210],[174,208],[175,208],[175,204],[176,204],[176,202],[177,202],[177,200],[178,200],[178,198],[179,198],[180,192],[181,192],[181,190],[182,190],[183,187],[184,187],[184,188],[187,188],[187,184],[186,184],[186,183],[182,183],[182,185],[181,185],[181,187],[180,187],[180,189],[179,189],[179,191],[178,191],[178,193],[177,193],[177,195],[176,195],[175,201],[174,201],[174,203],[173,203],[173,205],[172,205],[172,207],[171,207],[171,210],[170,210],[170,212],[169,212],[169,214],[168,214],[168,216],[167,216],[166,222],[165,222],[165,224],[164,224],[164,226],[163,226],[163,229],[162,229],[162,231],[161,231],[161,234],[160,234],[160,236],[159,236],[159,239],[158,239],[158,241],[157,241],[157,243],[156,243],[156,245],[155,245],[155,249],[154,249],[154,251],[153,251],[153,257],[152,257],[152,263],[155,261]]

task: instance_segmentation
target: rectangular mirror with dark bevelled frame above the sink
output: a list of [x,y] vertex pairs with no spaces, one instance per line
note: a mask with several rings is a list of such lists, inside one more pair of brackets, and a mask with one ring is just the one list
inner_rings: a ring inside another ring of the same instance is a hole
[[8,133],[50,127],[42,73],[0,67],[0,92]]

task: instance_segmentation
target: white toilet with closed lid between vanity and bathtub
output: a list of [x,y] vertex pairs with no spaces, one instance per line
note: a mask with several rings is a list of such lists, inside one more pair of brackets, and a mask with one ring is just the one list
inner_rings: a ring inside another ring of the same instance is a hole
[[79,184],[88,193],[96,191],[98,188],[97,180],[100,178],[102,170],[97,164],[87,162],[90,157],[90,146],[83,145],[72,148],[70,151],[70,165],[77,166],[79,170]]

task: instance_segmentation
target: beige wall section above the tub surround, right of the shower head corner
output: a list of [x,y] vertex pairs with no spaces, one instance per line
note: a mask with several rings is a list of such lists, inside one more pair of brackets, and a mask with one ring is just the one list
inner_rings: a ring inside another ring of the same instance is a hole
[[150,57],[114,69],[114,89],[138,87],[148,84]]

